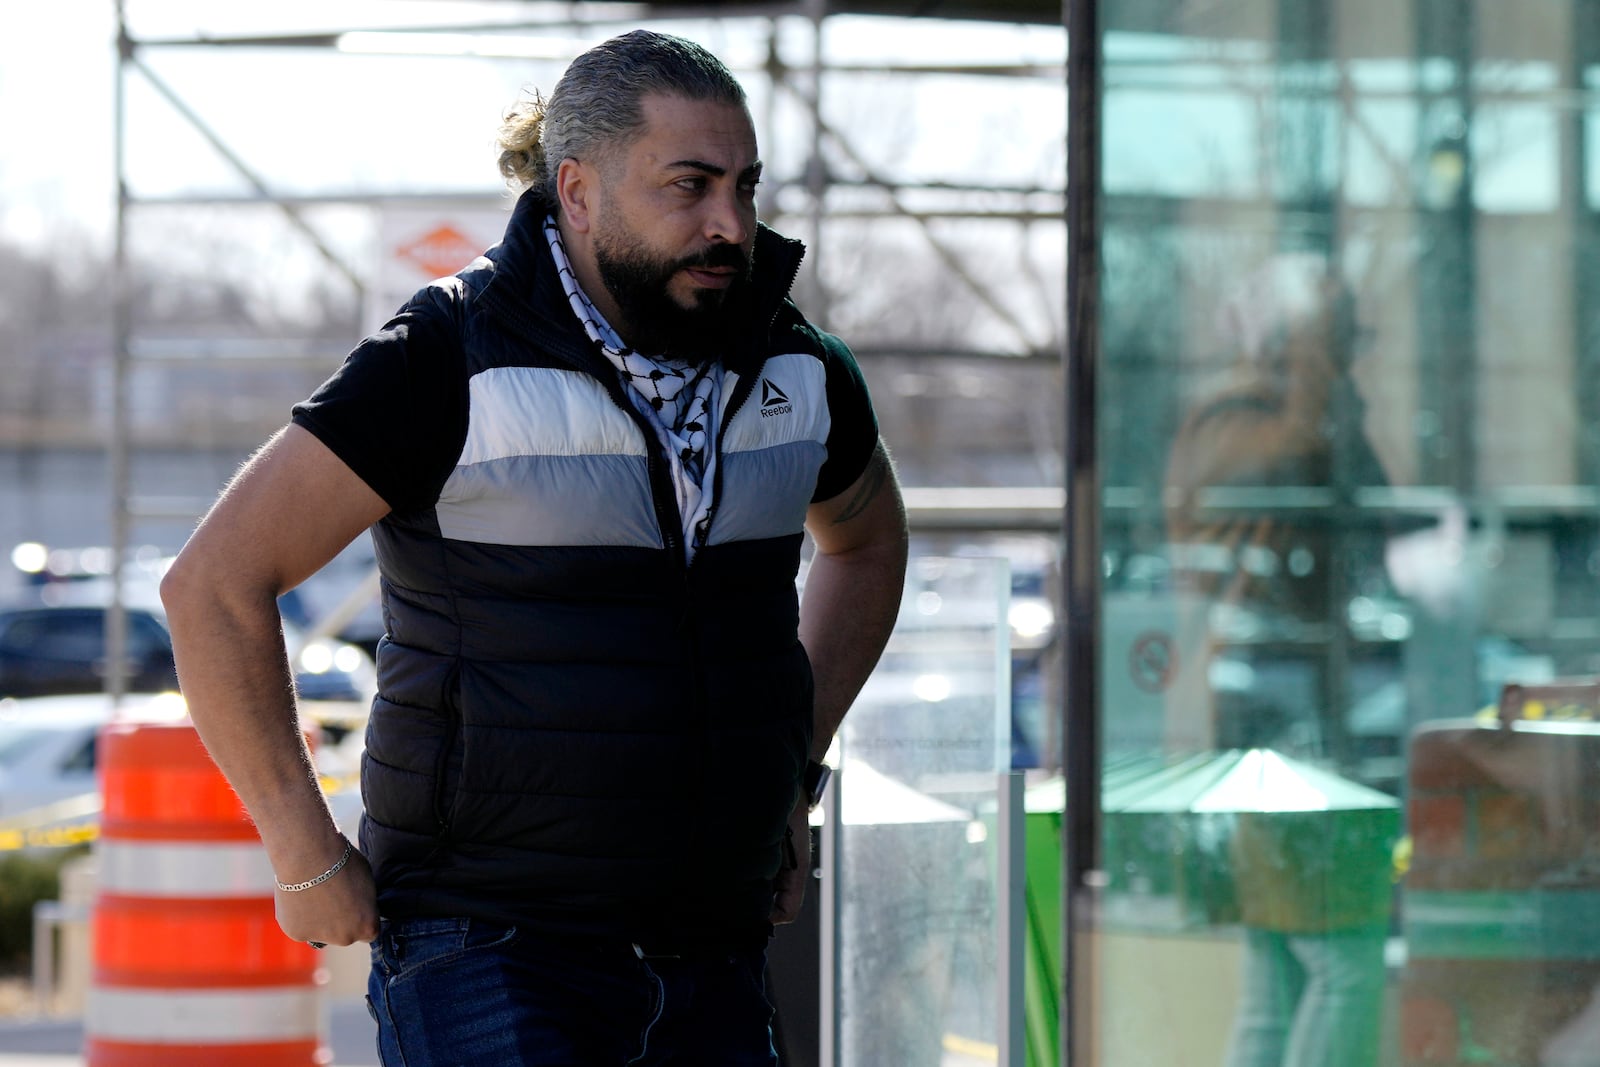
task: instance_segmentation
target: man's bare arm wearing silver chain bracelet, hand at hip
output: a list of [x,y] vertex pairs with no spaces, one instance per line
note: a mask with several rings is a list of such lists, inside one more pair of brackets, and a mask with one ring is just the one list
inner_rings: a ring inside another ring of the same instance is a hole
[[296,941],[378,933],[371,869],[349,851],[301,733],[277,598],[336,557],[389,506],[315,435],[288,426],[224,490],[162,579],[178,681],[211,758],[245,801]]

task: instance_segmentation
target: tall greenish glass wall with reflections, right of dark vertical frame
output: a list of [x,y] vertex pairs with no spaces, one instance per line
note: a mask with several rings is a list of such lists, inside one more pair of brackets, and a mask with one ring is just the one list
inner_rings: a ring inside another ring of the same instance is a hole
[[1077,1045],[1600,1064],[1600,5],[1101,10]]

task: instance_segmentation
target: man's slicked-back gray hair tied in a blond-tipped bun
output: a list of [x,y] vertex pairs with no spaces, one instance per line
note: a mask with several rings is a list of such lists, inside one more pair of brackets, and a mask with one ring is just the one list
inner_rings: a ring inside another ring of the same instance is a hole
[[501,174],[555,206],[562,160],[603,160],[627,146],[645,126],[640,101],[656,94],[746,106],[744,88],[717,56],[682,37],[634,30],[578,56],[549,99],[534,90],[506,114]]

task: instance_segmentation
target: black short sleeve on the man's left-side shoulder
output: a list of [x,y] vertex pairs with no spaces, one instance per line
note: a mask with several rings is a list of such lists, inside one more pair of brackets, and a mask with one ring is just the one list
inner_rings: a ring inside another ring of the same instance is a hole
[[395,512],[432,507],[467,437],[466,366],[453,317],[419,294],[294,405],[291,418]]

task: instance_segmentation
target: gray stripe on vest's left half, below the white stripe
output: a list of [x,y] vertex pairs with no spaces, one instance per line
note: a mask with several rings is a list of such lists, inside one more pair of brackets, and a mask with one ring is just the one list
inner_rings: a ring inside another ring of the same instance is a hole
[[456,467],[435,514],[451,541],[661,547],[643,456],[510,456]]

